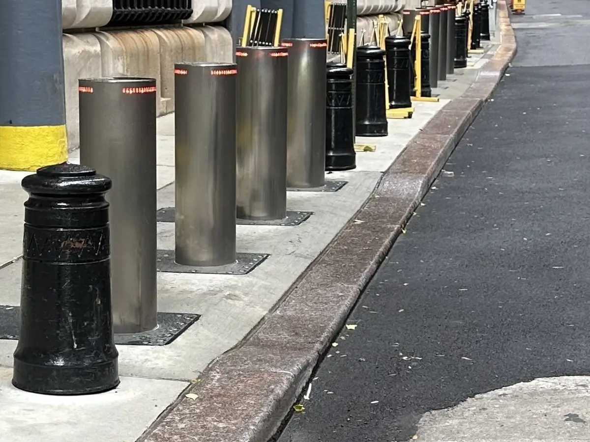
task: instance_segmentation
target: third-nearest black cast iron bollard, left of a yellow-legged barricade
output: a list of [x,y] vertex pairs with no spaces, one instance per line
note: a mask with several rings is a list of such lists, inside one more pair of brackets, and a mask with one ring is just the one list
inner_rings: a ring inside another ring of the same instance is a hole
[[387,136],[385,51],[375,45],[356,49],[356,135]]

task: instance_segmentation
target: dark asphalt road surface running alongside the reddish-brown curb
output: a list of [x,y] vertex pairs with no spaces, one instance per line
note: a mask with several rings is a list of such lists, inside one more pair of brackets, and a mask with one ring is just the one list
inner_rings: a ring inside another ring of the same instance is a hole
[[590,374],[590,1],[512,20],[513,67],[278,442],[409,441],[428,411]]

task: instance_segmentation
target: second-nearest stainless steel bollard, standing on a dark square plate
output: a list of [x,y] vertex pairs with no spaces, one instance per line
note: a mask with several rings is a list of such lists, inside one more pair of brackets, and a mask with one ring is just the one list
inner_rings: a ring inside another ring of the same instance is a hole
[[237,66],[175,65],[177,263],[235,262]]

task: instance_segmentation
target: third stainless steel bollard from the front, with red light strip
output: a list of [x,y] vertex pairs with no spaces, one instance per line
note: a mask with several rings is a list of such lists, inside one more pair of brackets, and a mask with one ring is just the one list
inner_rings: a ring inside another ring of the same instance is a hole
[[[240,47],[237,216],[287,216],[287,48]],[[323,97],[325,100],[325,97]],[[324,110],[325,112],[325,110]]]

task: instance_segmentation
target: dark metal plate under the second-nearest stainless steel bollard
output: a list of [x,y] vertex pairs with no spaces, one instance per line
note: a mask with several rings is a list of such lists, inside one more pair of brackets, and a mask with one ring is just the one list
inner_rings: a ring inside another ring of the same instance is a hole
[[215,267],[193,267],[178,264],[174,260],[174,250],[158,250],[158,272],[164,273],[214,273],[217,275],[246,275],[268,258],[265,253],[237,253],[233,264]]

